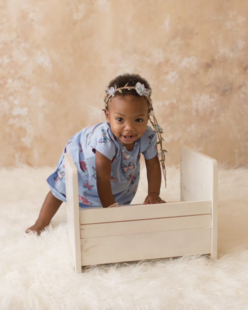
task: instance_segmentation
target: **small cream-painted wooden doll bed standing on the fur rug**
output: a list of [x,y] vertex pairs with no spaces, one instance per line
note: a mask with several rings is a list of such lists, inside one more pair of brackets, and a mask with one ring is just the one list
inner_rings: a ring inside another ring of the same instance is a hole
[[78,172],[65,154],[68,234],[75,271],[82,266],[210,254],[217,258],[218,166],[181,148],[181,201],[118,208],[78,204]]

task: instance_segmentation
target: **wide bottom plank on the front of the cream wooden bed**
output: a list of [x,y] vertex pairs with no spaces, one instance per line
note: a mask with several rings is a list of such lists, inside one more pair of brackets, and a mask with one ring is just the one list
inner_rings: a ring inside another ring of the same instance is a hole
[[81,239],[82,266],[209,254],[211,228]]

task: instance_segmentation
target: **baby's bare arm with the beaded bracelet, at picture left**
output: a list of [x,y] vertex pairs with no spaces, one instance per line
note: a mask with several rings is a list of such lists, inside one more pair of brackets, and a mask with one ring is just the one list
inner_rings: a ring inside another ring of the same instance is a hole
[[111,160],[102,153],[95,152],[96,186],[99,199],[104,208],[115,203],[111,184]]

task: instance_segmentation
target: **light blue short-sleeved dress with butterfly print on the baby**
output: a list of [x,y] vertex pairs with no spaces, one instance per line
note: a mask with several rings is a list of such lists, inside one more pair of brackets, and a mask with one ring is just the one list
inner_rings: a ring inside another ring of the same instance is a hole
[[110,182],[115,201],[130,204],[138,188],[141,153],[145,159],[157,155],[157,135],[150,126],[131,151],[113,135],[107,121],[83,128],[69,139],[55,171],[47,178],[52,194],[66,201],[64,153],[69,153],[78,169],[79,207],[101,206],[96,187],[96,150],[112,162]]

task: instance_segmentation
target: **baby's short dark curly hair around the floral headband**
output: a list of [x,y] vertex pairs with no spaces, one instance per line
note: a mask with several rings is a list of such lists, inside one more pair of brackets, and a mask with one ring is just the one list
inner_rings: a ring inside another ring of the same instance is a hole
[[[123,87],[127,84],[127,86],[135,86],[136,83],[140,82],[141,84],[144,84],[145,88],[150,89],[149,95],[151,94],[152,90],[147,82],[146,79],[142,78],[139,74],[133,74],[133,73],[125,73],[122,75],[118,75],[116,78],[114,78],[112,81],[109,82],[108,88],[115,87],[117,88]],[[125,95],[133,95],[136,97],[140,97],[140,95],[137,93],[135,89],[122,89],[122,92],[116,92],[115,96],[125,96]],[[107,96],[105,96],[104,101],[106,101]]]

